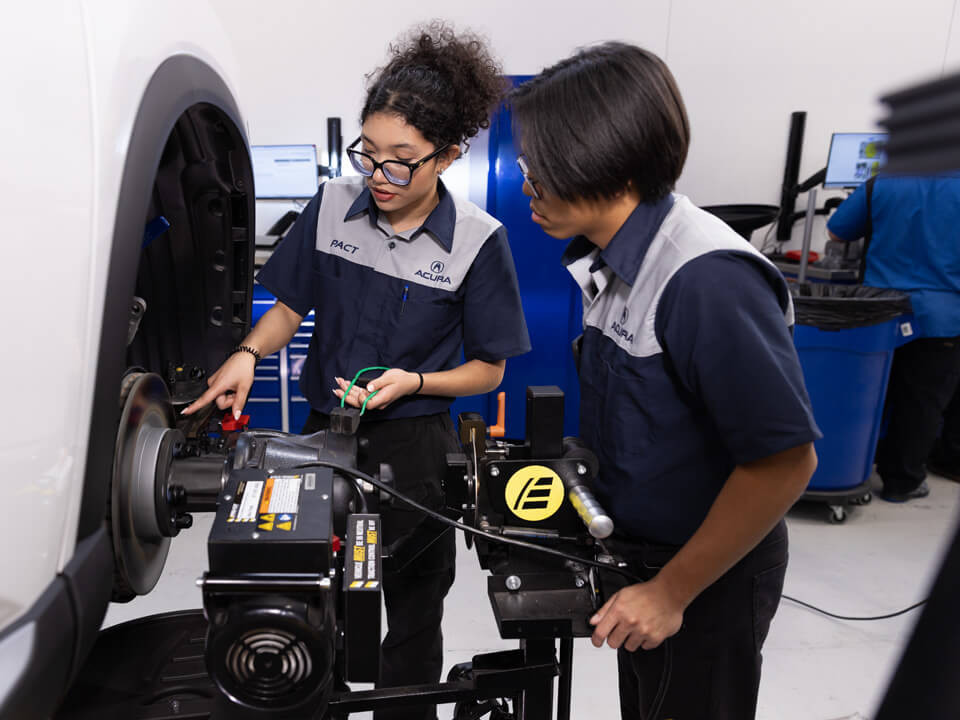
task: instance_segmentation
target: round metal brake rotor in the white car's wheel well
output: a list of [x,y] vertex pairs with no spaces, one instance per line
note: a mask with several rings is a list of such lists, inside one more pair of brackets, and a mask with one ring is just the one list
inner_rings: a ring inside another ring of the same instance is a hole
[[170,443],[164,439],[177,431],[159,375],[127,375],[120,403],[109,523],[116,561],[113,599],[127,601],[154,588],[170,550],[157,518],[156,487],[158,474],[170,464]]

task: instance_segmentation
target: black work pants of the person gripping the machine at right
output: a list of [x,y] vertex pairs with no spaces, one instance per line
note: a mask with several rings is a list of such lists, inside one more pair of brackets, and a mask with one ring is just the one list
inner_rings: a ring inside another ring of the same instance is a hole
[[[640,577],[656,575],[671,552],[618,544]],[[617,651],[620,715],[624,720],[750,720],[756,715],[761,648],[780,603],[787,571],[782,520],[740,562],[698,595],[669,638],[669,681],[660,712],[650,714],[664,681],[666,643],[653,650]]]

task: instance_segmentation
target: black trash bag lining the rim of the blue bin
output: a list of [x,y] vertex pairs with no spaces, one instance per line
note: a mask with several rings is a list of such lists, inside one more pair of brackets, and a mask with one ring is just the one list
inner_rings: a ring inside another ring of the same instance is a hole
[[913,311],[906,293],[866,285],[790,283],[790,295],[797,325],[821,330],[879,325]]

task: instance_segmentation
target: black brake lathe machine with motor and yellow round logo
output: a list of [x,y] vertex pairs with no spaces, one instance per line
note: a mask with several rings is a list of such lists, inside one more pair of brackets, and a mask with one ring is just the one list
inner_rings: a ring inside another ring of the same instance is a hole
[[[556,701],[565,720],[572,638],[590,634],[602,601],[590,563],[606,558],[599,538],[612,525],[589,490],[596,459],[562,437],[562,413],[559,389],[530,388],[524,440],[490,440],[481,418],[462,416],[463,452],[448,456],[443,514],[472,528],[500,634],[519,649],[478,655],[436,685],[350,690],[377,680],[382,563],[395,560],[383,557],[377,514],[389,468],[356,470],[357,411],[303,437],[190,431],[163,464],[157,513],[215,513],[197,582],[203,612],[102,632],[58,717],[313,719],[454,702],[456,718],[496,709],[491,717],[545,720]],[[438,530],[438,515],[423,527]]]

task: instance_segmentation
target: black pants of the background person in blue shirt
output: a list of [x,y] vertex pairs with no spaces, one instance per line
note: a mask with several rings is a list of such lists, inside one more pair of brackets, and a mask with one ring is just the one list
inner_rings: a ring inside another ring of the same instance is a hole
[[[960,337],[920,338],[893,355],[884,413],[887,434],[877,447],[877,473],[888,493],[916,489],[940,421],[960,385]],[[960,403],[954,403],[960,405]],[[960,442],[960,407],[953,407],[946,430]]]

